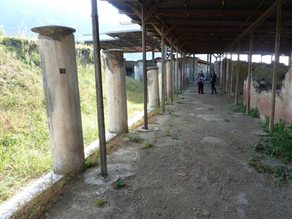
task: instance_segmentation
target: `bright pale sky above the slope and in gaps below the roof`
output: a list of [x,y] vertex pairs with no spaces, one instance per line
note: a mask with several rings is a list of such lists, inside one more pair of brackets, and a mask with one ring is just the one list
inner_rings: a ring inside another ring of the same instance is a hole
[[[0,25],[4,24],[7,34],[25,34],[36,36],[30,29],[44,25],[64,25],[76,29],[75,37],[81,34],[92,33],[91,29],[91,1],[85,0],[0,0]],[[99,31],[109,31],[118,26],[120,22],[131,21],[126,15],[118,13],[118,9],[107,1],[97,1]],[[152,59],[151,52],[147,52],[147,59]],[[142,59],[142,53],[124,54],[127,60]],[[161,57],[161,53],[155,53],[155,57]],[[203,60],[207,60],[206,54],[198,54]],[[227,55],[230,58],[230,55]],[[212,62],[215,60],[212,57]],[[237,60],[237,55],[232,56]],[[240,60],[247,61],[247,55],[240,55]],[[253,55],[253,62],[260,62],[260,55]],[[274,60],[274,57],[273,57]],[[271,56],[263,56],[263,62],[271,63]],[[280,57],[280,62],[288,65],[288,57]]]

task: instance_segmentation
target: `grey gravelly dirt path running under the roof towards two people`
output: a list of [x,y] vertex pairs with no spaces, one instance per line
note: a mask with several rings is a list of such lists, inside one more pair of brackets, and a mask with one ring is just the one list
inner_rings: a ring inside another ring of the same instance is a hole
[[[274,185],[246,158],[258,140],[260,119],[232,111],[234,99],[198,94],[190,87],[170,114],[156,115],[159,131],[138,132],[144,139],[119,139],[109,156],[109,176],[99,167],[74,180],[45,218],[292,218],[292,186]],[[229,122],[228,122],[229,121]],[[146,142],[153,148],[141,149]],[[112,183],[125,178],[128,187]],[[97,198],[102,208],[94,206]]]

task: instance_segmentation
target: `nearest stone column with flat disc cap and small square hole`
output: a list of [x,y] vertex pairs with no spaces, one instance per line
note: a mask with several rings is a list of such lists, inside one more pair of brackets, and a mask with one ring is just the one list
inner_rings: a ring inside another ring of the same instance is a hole
[[32,31],[39,33],[54,173],[75,174],[85,169],[75,29],[44,26]]

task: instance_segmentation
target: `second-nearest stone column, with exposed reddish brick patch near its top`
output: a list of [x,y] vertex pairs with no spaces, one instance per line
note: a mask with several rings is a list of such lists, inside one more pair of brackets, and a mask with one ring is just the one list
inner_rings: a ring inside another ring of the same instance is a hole
[[104,53],[109,132],[125,133],[128,132],[128,111],[124,51],[110,49]]

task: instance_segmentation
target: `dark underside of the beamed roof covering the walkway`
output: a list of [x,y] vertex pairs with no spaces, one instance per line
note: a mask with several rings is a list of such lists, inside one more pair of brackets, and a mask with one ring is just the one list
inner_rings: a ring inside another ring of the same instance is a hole
[[[249,51],[249,32],[254,28],[253,53],[271,54],[275,48],[277,0],[103,0],[119,13],[141,24],[142,3],[146,5],[147,36],[161,38],[161,28],[175,47],[187,53]],[[280,54],[291,54],[292,0],[282,4]],[[231,46],[232,45],[232,46]]]

